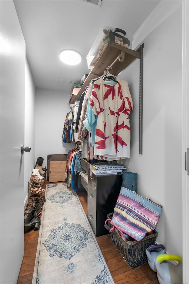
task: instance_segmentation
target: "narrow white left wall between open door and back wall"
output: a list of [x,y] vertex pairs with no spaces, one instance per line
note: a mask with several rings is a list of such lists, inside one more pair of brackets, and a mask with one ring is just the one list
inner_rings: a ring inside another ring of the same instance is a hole
[[25,147],[31,147],[30,153],[24,154],[24,196],[27,201],[28,181],[35,166],[35,85],[30,66],[26,58],[25,66]]

